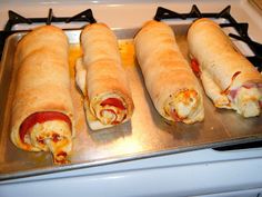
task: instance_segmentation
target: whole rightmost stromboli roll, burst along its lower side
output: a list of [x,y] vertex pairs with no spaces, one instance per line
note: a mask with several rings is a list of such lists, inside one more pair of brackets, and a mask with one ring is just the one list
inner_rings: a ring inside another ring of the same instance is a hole
[[196,20],[189,29],[188,42],[204,90],[215,107],[234,109],[243,117],[259,116],[262,76],[219,24],[210,19]]

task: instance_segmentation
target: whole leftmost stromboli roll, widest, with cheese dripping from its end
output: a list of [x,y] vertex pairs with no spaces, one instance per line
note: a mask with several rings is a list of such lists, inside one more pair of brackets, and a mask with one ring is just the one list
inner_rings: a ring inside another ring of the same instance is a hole
[[24,150],[51,151],[68,162],[74,135],[68,38],[52,26],[37,28],[18,43],[11,140]]

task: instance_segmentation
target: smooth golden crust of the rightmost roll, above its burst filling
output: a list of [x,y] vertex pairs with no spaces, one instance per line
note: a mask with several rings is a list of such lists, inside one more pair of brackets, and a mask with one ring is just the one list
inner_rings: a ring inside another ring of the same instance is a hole
[[245,82],[262,82],[261,75],[236,49],[218,23],[210,19],[199,19],[188,32],[191,55],[198,59],[201,69],[213,76],[213,80],[224,90],[232,76],[240,71],[231,89]]

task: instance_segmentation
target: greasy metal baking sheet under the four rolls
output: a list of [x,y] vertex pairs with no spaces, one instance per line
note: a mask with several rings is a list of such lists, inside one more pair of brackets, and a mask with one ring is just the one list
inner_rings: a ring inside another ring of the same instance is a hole
[[[188,58],[185,39],[188,27],[189,24],[173,26],[185,58]],[[0,67],[0,180],[262,139],[262,116],[245,119],[233,110],[215,109],[206,97],[203,122],[194,125],[165,122],[149,97],[135,60],[132,38],[138,29],[114,31],[120,39],[119,46],[132,90],[134,114],[131,121],[110,129],[92,131],[88,128],[82,97],[74,82],[74,60],[81,56],[79,46],[81,31],[66,31],[71,43],[69,61],[73,105],[77,111],[77,135],[73,139],[71,164],[64,166],[54,166],[50,152],[28,152],[18,149],[10,140],[10,109],[16,75],[12,68],[13,55],[24,32],[8,38]]]

